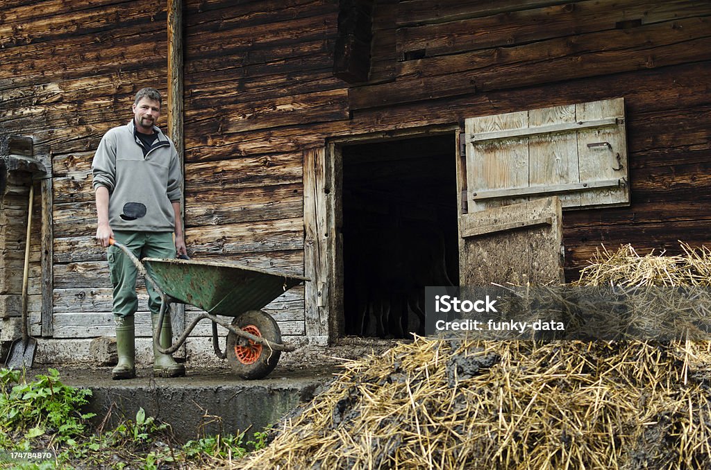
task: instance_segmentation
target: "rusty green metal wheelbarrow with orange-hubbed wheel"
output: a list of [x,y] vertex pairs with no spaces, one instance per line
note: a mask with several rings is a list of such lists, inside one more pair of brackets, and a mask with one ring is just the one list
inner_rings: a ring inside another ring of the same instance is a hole
[[[190,259],[144,258],[124,245],[109,240],[131,259],[161,297],[158,324],[154,325],[154,346],[163,354],[173,354],[182,346],[198,322],[213,322],[213,349],[227,359],[232,371],[247,379],[263,378],[277,366],[282,351],[295,347],[282,343],[279,325],[262,307],[308,278],[240,266],[232,263]],[[171,303],[189,304],[203,310],[186,327],[175,343],[163,348],[159,334]],[[233,317],[230,322],[222,317]],[[225,351],[218,344],[218,324],[228,329]]]

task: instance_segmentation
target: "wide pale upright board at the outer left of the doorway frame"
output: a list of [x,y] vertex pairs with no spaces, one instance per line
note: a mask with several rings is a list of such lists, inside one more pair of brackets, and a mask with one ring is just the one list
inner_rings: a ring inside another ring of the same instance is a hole
[[304,151],[304,310],[306,336],[328,336],[328,226],[326,226],[326,149]]

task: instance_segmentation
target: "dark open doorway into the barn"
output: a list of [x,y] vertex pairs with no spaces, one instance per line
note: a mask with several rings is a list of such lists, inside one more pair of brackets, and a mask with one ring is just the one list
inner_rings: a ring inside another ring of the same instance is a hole
[[459,283],[455,150],[454,133],[342,148],[346,335],[424,334],[424,287]]

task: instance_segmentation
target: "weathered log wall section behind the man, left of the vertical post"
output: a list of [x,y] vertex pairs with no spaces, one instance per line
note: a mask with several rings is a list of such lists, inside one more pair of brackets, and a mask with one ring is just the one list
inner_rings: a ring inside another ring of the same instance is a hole
[[[90,166],[103,133],[130,119],[137,89],[165,86],[166,13],[161,4],[6,1],[0,9],[0,133],[31,136],[35,153],[53,161],[53,184],[47,187],[53,188],[49,268],[54,307],[42,329],[42,299],[36,297],[41,297],[41,228],[47,227],[41,227],[41,214],[33,219],[31,273],[36,278],[31,278],[30,312],[37,336],[95,336],[85,324],[111,311],[110,303],[87,300],[105,294],[105,281],[97,278],[107,270],[105,251],[92,240],[96,214]],[[40,191],[36,194],[39,200]],[[73,275],[65,278],[68,272]],[[21,270],[14,276],[21,280]],[[46,303],[51,309],[52,302]],[[68,311],[79,327],[66,328]],[[105,333],[112,334],[111,322],[105,325]]]

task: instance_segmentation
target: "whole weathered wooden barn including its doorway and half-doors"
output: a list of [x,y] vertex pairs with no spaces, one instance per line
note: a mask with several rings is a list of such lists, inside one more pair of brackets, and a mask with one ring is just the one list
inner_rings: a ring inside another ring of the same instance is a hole
[[38,360],[113,334],[90,165],[146,86],[188,253],[310,278],[267,307],[301,344],[417,330],[422,285],[538,266],[510,244],[530,230],[560,228],[540,249],[567,280],[600,244],[708,244],[710,21],[707,0],[4,0],[0,337],[31,186]]

